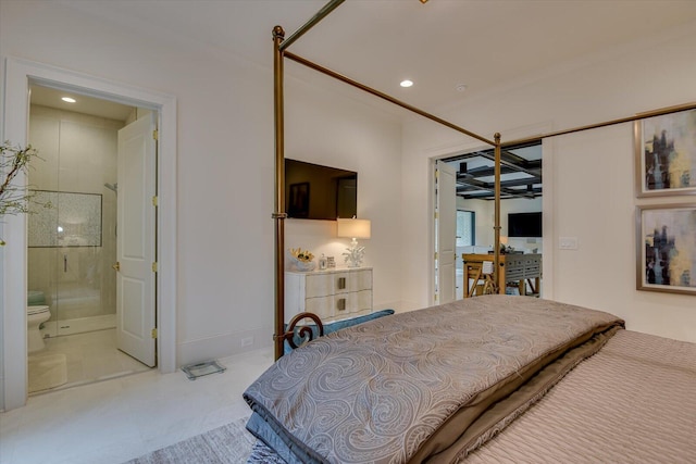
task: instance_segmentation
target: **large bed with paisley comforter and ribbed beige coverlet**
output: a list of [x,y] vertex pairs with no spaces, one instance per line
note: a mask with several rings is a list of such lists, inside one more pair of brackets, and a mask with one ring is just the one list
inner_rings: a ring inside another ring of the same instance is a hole
[[696,344],[483,296],[348,327],[244,393],[256,462],[688,462]]

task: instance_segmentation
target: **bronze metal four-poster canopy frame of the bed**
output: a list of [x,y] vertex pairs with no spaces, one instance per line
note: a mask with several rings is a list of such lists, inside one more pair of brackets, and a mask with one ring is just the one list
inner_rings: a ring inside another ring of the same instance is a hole
[[[360,84],[353,79],[350,79],[339,73],[331,71],[326,67],[323,67],[316,63],[313,63],[307,59],[298,57],[289,51],[287,48],[293,45],[297,39],[299,39],[304,33],[311,29],[316,23],[327,16],[331,12],[333,12],[337,7],[339,7],[345,0],[331,0],[324,8],[322,8],[314,16],[312,16],[303,26],[301,26],[295,34],[285,39],[285,32],[283,27],[275,26],[273,28],[273,43],[274,43],[274,60],[273,60],[273,68],[274,68],[274,122],[275,122],[275,212],[272,214],[273,220],[275,221],[275,323],[274,323],[274,347],[275,347],[275,359],[279,359],[284,352],[284,341],[288,340],[293,344],[293,335],[296,325],[304,319],[311,318],[313,319],[318,326],[321,327],[321,319],[311,313],[300,313],[296,315],[293,321],[288,324],[288,327],[285,327],[285,308],[284,308],[284,299],[285,299],[285,220],[287,218],[287,213],[285,212],[285,134],[284,134],[284,59],[287,58],[289,60],[295,61],[296,63],[302,64],[307,67],[310,67],[314,71],[323,73],[330,77],[341,80],[345,84],[353,86],[360,90],[363,90],[368,93],[371,93],[375,97],[384,99],[388,102],[391,102],[398,106],[401,106],[410,112],[419,114],[423,117],[426,117],[433,122],[436,122],[440,125],[449,127],[453,130],[457,130],[461,134],[464,134],[469,137],[477,139],[488,146],[494,147],[495,149],[495,223],[494,223],[494,267],[493,267],[493,281],[498,281],[498,273],[499,273],[499,264],[500,264],[500,165],[501,165],[501,151],[505,147],[511,147],[517,145],[522,145],[530,141],[536,141],[544,138],[550,138],[567,134],[572,134],[576,131],[583,131],[588,129],[595,129],[600,127],[606,127],[616,124],[635,122],[638,120],[643,120],[646,117],[659,116],[663,114],[674,113],[684,110],[691,110],[696,108],[696,103],[672,106],[668,109],[650,111],[646,113],[641,113],[635,116],[627,116],[618,120],[611,120],[607,122],[591,124],[586,126],[580,126],[570,129],[558,130],[554,133],[548,133],[544,135],[537,135],[534,137],[511,140],[506,143],[501,143],[500,134],[496,133],[494,135],[494,139],[487,139],[486,137],[474,134],[470,130],[467,130],[462,127],[459,127],[456,124],[447,122],[440,117],[437,117],[431,113],[422,111],[413,105],[405,103],[394,97],[390,97],[386,93],[383,93],[378,90],[375,90],[371,87],[368,87],[363,84]],[[421,0],[422,1],[422,0]],[[307,329],[306,331],[300,330],[300,335],[308,334],[311,335],[311,330]]]

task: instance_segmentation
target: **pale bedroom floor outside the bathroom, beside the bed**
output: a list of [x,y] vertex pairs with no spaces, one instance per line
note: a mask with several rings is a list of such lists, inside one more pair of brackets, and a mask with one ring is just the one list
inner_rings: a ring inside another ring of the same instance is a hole
[[0,413],[0,464],[120,464],[249,415],[241,393],[273,349],[217,361],[196,380],[149,369],[29,397]]

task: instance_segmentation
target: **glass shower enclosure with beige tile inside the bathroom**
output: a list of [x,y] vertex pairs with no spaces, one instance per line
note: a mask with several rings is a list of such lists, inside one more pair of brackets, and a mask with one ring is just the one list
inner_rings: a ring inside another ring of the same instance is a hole
[[[27,304],[46,304],[44,336],[115,327],[115,159],[123,124],[32,106]],[[108,186],[110,187],[108,187]]]

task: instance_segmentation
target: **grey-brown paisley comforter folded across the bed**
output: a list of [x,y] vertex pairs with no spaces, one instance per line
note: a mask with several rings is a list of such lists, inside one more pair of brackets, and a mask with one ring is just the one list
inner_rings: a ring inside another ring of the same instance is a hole
[[244,393],[247,427],[288,462],[456,462],[622,325],[508,296],[382,317],[278,360]]

